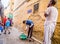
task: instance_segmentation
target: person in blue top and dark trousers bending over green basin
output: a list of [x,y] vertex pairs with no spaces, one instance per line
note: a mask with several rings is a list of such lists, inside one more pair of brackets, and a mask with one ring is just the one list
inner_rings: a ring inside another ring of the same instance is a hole
[[23,24],[26,24],[26,27],[29,28],[27,38],[29,38],[29,41],[31,41],[34,23],[32,20],[24,20]]

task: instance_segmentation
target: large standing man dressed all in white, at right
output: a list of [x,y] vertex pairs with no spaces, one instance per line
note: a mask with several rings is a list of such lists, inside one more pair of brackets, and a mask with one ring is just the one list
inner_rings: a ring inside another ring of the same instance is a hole
[[51,44],[51,37],[54,33],[56,21],[58,17],[58,10],[54,5],[56,4],[55,0],[51,0],[48,8],[44,14],[46,17],[44,23],[44,44]]

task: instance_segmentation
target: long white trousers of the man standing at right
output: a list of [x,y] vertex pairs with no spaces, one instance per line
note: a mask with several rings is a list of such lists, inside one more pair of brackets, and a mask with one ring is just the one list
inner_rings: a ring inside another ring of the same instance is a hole
[[55,30],[54,23],[44,25],[44,44],[51,44],[51,37]]

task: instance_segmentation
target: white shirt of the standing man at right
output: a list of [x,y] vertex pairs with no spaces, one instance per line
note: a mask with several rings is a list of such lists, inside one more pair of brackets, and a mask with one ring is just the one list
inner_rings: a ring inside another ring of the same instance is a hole
[[46,10],[46,14],[48,16],[46,17],[45,24],[49,23],[56,23],[57,17],[58,17],[58,10],[54,6],[48,7]]

